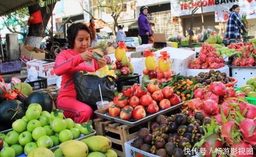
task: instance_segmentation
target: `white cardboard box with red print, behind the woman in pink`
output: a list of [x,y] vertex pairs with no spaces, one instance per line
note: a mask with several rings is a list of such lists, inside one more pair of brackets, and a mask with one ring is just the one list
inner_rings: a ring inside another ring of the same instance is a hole
[[37,70],[38,76],[43,78],[47,78],[47,85],[54,85],[57,81],[57,75],[54,73],[53,66],[55,61],[54,60],[32,60],[28,61],[27,69],[28,73],[31,67],[35,67]]

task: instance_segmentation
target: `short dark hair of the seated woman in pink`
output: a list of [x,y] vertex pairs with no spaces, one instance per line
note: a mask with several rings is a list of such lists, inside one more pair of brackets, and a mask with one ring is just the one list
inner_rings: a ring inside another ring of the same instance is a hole
[[[78,31],[84,30],[90,34],[90,38],[92,38],[91,31],[90,29],[82,22],[79,23],[72,23],[72,25],[69,26],[67,29],[67,38],[68,38],[68,43],[70,46],[70,49],[74,48],[74,42],[76,39],[76,35]],[[91,39],[92,40],[92,39]]]

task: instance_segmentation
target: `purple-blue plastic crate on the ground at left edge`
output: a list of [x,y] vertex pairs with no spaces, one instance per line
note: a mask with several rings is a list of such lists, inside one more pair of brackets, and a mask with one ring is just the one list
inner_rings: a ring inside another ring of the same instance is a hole
[[7,63],[0,63],[0,73],[10,73],[20,71],[21,62],[20,61],[10,61]]

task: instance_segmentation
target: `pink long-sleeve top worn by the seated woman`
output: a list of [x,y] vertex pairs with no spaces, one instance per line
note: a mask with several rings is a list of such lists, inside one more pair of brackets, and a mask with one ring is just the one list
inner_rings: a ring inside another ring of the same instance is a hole
[[83,61],[81,54],[78,52],[72,49],[61,51],[58,54],[54,64],[55,74],[62,76],[58,99],[65,96],[76,97],[76,90],[72,80],[72,75],[74,72],[81,70],[95,72],[98,69],[98,64],[94,59],[91,61],[91,65],[88,65],[85,61]]

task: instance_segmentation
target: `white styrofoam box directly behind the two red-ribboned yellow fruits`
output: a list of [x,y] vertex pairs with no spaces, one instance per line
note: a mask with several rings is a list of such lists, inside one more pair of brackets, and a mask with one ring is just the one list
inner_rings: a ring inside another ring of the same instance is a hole
[[185,49],[177,49],[174,47],[165,47],[155,52],[156,59],[161,56],[160,52],[162,51],[167,51],[170,54],[171,69],[174,70],[176,74],[180,73],[181,75],[186,76],[189,63],[196,57],[196,52]]

